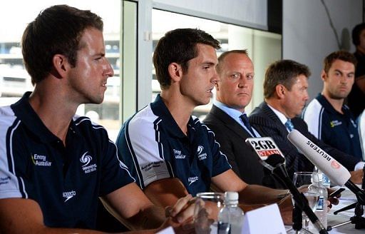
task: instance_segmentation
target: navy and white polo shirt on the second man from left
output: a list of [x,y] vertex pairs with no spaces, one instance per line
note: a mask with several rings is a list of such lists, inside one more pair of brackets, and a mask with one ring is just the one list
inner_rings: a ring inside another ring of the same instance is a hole
[[231,168],[214,133],[190,116],[186,136],[159,95],[123,124],[117,146],[142,189],[155,180],[179,178],[196,195],[210,190],[211,178]]

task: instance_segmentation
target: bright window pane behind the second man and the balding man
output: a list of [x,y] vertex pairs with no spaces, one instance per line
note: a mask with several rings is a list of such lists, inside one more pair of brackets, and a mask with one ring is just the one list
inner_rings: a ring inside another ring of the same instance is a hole
[[[232,49],[247,49],[255,66],[255,89],[250,106],[247,106],[246,111],[250,113],[252,106],[255,107],[263,101],[262,82],[264,70],[269,63],[282,59],[282,36],[280,34],[153,9],[153,50],[155,50],[158,40],[167,31],[178,28],[197,28],[211,34],[220,41],[222,46],[222,49],[217,51],[217,56]],[[152,70],[152,100],[154,100],[155,96],[160,93],[160,86],[154,68]],[[213,90],[213,98],[214,95],[215,90]],[[210,111],[211,106],[212,100],[205,106],[197,106],[193,115],[202,120],[205,118],[205,114]]]

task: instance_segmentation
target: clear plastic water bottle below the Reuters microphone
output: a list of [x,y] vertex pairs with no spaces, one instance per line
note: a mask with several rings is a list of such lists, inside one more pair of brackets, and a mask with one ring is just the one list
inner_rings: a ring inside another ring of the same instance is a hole
[[319,221],[327,228],[327,188],[323,185],[323,173],[313,173],[312,184],[308,186],[308,190],[319,193],[319,200],[316,208],[316,215]]

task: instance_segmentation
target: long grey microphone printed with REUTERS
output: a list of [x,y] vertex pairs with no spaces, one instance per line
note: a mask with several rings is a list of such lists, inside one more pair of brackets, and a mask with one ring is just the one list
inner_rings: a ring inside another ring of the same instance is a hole
[[351,174],[349,171],[329,156],[322,148],[319,148],[315,143],[303,136],[297,130],[291,131],[287,138],[292,144],[306,156],[319,170],[336,185],[345,185],[351,192],[355,193],[359,203],[365,205],[365,193],[350,180]]

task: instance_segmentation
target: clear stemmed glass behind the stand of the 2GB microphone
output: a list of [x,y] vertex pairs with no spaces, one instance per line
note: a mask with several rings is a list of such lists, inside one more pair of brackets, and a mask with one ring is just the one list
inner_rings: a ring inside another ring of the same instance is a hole
[[[293,183],[294,183],[295,187],[297,187],[297,188],[299,188],[303,185],[310,185],[312,183],[313,176],[315,176],[313,172],[295,172]],[[307,198],[309,207],[312,208],[312,210],[314,212],[317,208],[317,204],[318,204],[318,200],[319,200],[319,193],[309,191],[308,189],[304,189],[304,191],[302,190],[302,193]],[[294,205],[293,198],[292,198],[292,203]],[[304,212],[302,213],[302,217],[303,217],[302,220],[304,221],[304,225],[303,225],[304,232],[302,232],[302,233],[305,233],[305,230],[309,229],[309,218],[307,217],[307,215]]]

